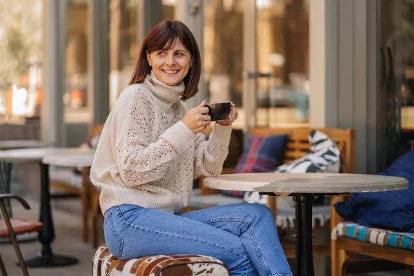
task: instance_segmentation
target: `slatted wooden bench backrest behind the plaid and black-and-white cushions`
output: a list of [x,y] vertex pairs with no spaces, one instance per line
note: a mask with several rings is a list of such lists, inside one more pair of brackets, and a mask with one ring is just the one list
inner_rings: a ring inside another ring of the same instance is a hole
[[250,128],[250,135],[270,136],[270,135],[288,135],[288,144],[284,154],[284,163],[288,163],[308,153],[311,144],[308,141],[308,135],[311,130],[319,130],[325,133],[337,143],[341,152],[341,172],[355,173],[356,171],[356,139],[355,130],[352,128]]

